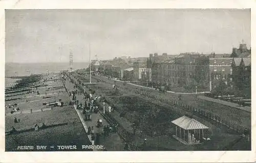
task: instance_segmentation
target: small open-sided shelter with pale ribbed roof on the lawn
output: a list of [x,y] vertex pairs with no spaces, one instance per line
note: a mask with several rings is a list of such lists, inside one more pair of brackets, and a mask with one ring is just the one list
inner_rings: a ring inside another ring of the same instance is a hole
[[173,137],[186,145],[201,144],[201,140],[204,138],[204,130],[209,128],[186,116],[182,116],[172,121],[172,123],[176,125],[176,135],[173,135]]

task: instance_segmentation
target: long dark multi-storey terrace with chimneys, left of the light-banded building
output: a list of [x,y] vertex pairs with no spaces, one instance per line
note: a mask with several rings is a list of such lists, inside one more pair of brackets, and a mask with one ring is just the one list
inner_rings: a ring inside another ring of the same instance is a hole
[[205,83],[209,78],[208,67],[208,57],[200,56],[198,53],[182,53],[174,60],[163,60],[154,63],[152,82],[160,85],[177,86]]

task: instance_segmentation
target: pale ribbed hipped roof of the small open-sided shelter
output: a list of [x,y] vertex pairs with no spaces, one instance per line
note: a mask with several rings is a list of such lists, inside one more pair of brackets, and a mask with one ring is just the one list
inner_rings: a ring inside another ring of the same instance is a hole
[[177,126],[183,128],[183,129],[186,129],[186,130],[209,128],[209,127],[203,125],[202,123],[198,122],[197,120],[188,118],[186,116],[180,117],[180,118],[172,121],[172,123],[176,124]]

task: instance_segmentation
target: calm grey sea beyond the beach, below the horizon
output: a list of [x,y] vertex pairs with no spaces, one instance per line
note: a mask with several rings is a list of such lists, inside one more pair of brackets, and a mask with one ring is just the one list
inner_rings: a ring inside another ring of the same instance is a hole
[[[73,63],[74,70],[87,68],[89,63]],[[68,70],[69,63],[6,63],[5,64],[5,87],[14,86],[18,76],[29,76],[31,74],[42,74],[47,72],[60,72]]]

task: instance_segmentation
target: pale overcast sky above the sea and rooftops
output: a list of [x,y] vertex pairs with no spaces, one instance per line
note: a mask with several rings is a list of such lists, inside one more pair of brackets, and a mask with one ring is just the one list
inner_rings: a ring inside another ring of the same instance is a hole
[[6,10],[6,62],[88,62],[250,47],[250,10]]

